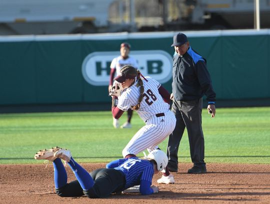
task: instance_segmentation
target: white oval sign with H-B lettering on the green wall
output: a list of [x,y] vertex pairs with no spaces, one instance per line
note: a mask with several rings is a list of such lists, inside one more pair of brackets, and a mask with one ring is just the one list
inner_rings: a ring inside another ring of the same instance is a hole
[[[86,82],[94,86],[107,86],[109,82],[110,63],[119,52],[94,52],[87,55],[82,63],[82,75]],[[172,57],[162,50],[132,51],[139,71],[159,83],[166,83],[172,76]]]

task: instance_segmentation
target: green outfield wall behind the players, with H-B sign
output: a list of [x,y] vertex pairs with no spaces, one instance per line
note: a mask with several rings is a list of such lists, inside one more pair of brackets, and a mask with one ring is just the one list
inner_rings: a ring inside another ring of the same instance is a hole
[[[109,65],[122,42],[171,91],[176,33],[0,37],[0,105],[109,102]],[[270,98],[270,30],[185,34],[207,60],[217,100]]]

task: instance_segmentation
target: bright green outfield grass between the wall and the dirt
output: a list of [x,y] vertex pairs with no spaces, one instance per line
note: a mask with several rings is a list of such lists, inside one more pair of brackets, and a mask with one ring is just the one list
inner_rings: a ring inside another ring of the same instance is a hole
[[[143,125],[135,112],[131,122],[131,129],[114,129],[109,111],[0,114],[0,164],[41,163],[35,152],[56,145],[78,162],[108,162]],[[202,122],[205,162],[270,163],[270,107],[218,108],[214,119],[204,109]],[[179,162],[191,162],[186,131],[178,154]]]

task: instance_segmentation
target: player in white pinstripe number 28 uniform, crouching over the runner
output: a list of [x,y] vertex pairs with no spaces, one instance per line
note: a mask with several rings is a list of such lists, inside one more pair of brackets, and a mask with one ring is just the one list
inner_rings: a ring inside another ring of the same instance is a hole
[[[142,80],[140,76],[138,70],[127,65],[114,78],[123,91],[118,97],[117,106],[113,98],[113,117],[119,118],[124,111],[132,108],[145,122],[122,150],[124,158],[133,157],[146,148],[158,148],[157,144],[174,130],[176,123],[174,114],[169,110],[169,93],[156,80],[150,77],[142,77]],[[163,173],[165,177],[169,175],[168,170]],[[174,183],[174,180],[168,183]]]

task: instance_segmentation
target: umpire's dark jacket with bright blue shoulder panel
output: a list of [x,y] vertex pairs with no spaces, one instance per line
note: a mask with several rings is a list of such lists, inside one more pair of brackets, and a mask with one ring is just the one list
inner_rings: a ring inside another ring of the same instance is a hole
[[188,101],[201,98],[215,101],[206,60],[195,53],[191,47],[183,56],[174,54],[172,65],[172,94],[175,100]]

